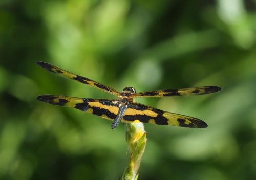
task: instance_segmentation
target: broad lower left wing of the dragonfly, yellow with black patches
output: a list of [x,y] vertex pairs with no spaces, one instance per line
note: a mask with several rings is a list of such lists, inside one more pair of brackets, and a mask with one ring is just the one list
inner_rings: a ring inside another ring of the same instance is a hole
[[119,107],[117,100],[108,99],[90,99],[90,98],[75,98],[57,95],[41,95],[37,100],[58,105],[79,109],[86,113],[101,116],[102,118],[113,121],[118,113]]

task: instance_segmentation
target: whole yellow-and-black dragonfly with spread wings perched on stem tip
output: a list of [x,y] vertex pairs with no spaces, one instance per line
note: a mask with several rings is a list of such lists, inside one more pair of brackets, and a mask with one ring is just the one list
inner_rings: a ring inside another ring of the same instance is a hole
[[133,87],[125,87],[122,92],[105,86],[86,77],[75,75],[71,72],[58,68],[52,64],[38,61],[41,68],[53,74],[78,81],[95,87],[104,92],[113,94],[118,99],[92,99],[76,98],[61,95],[40,95],[37,100],[57,105],[79,109],[89,114],[100,116],[112,121],[111,128],[115,129],[120,122],[123,123],[152,123],[159,125],[173,125],[190,128],[206,128],[208,125],[194,117],[169,113],[154,107],[140,104],[134,98],[140,97],[185,97],[190,95],[204,95],[221,91],[218,86],[203,86],[182,89],[165,89],[157,91],[145,91],[137,93]]

